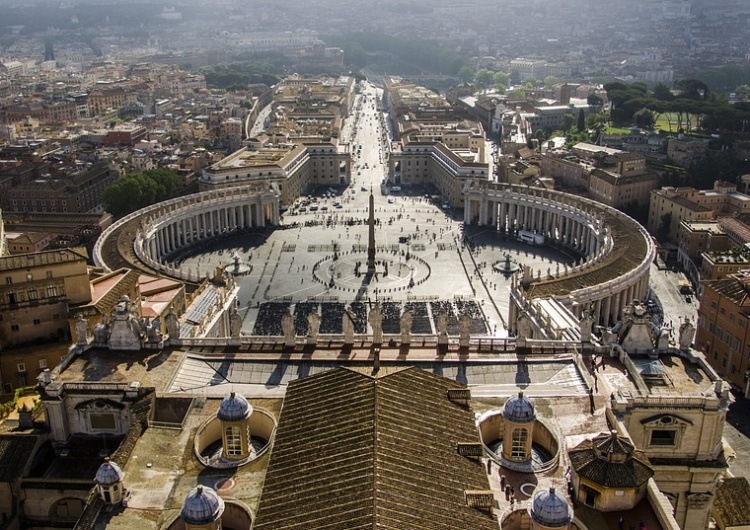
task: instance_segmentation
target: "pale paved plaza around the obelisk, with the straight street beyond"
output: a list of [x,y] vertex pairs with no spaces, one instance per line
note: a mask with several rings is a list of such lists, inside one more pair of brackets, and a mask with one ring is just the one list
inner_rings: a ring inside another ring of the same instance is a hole
[[[511,277],[500,269],[506,255],[514,265],[553,272],[575,257],[549,247],[504,241],[487,228],[467,228],[464,234],[461,212],[447,207],[434,188],[386,187],[385,118],[375,107],[374,89],[366,102],[364,96],[359,98],[360,110],[344,127],[345,133],[356,131],[350,144],[354,162],[348,186],[319,188],[300,198],[279,227],[191,249],[179,257],[180,267],[206,275],[216,267],[232,270],[237,261],[242,270],[237,283],[243,335],[263,334],[258,318],[265,318],[261,306],[266,303],[296,307],[312,300],[370,307],[378,301],[394,303],[397,310],[407,302],[459,300],[473,301],[479,308],[483,324],[475,326],[474,333],[507,336]],[[378,263],[374,276],[364,274],[371,193]],[[435,307],[426,310],[431,323],[425,333],[435,331],[433,310],[437,312]]]

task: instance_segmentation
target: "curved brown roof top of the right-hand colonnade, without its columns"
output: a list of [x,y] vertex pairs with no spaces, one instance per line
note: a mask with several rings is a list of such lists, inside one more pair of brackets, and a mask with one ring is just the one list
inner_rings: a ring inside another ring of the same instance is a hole
[[[547,296],[580,294],[585,290],[599,290],[603,286],[621,283],[633,274],[640,274],[654,260],[656,249],[646,230],[628,215],[605,204],[559,191],[528,188],[512,184],[473,182],[467,189],[467,200],[487,198],[509,202],[511,195],[523,194],[540,207],[557,209],[565,215],[580,211],[585,217],[599,218],[611,238],[609,252],[595,261],[588,261],[561,274],[557,278],[544,278],[524,285],[525,296],[536,299]],[[514,202],[513,199],[510,199]],[[589,223],[586,223],[587,225]],[[595,223],[596,224],[596,223]]]

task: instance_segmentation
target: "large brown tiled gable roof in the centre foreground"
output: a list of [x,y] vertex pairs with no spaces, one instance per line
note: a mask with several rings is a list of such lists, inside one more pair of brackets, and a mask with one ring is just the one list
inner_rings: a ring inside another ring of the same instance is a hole
[[455,381],[416,368],[373,377],[338,368],[289,384],[256,530],[497,530],[469,508],[483,465],[457,452],[478,439]]

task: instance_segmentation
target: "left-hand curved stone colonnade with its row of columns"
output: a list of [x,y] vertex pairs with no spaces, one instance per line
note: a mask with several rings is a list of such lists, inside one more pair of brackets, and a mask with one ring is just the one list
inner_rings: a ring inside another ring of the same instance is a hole
[[[279,223],[279,198],[259,187],[211,190],[170,199],[133,212],[105,230],[94,246],[94,262],[111,270],[104,249],[124,226],[136,222],[130,234],[133,251],[148,268],[188,282],[199,282],[198,271],[181,271],[168,261],[170,255],[201,241],[237,230]],[[212,271],[206,271],[212,272]]]

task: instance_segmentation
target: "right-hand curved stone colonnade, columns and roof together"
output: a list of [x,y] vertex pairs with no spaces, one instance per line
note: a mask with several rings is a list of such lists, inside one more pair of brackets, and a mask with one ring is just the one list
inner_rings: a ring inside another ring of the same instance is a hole
[[626,304],[645,298],[656,248],[645,228],[619,210],[559,191],[489,182],[472,183],[465,201],[466,224],[490,226],[508,238],[527,230],[583,256],[562,273],[526,271],[514,282],[512,332],[533,300],[554,297],[577,318],[590,309],[595,323],[610,325]]

